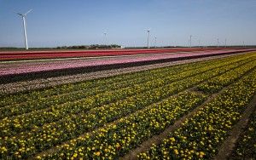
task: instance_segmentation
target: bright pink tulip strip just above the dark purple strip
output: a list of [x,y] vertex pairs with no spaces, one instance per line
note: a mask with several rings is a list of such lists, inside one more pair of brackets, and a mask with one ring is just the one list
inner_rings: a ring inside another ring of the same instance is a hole
[[79,60],[48,60],[40,62],[16,62],[2,63],[0,65],[0,77],[17,75],[23,73],[40,72],[40,71],[58,71],[62,69],[86,68],[91,66],[108,66],[117,64],[132,64],[143,61],[154,60],[182,60],[186,58],[198,58],[204,56],[212,56],[216,54],[231,54],[234,52],[250,51],[250,49],[229,49],[229,50],[212,50],[212,51],[196,51],[189,53],[172,53],[172,54],[144,54],[129,56],[114,56],[92,59]]

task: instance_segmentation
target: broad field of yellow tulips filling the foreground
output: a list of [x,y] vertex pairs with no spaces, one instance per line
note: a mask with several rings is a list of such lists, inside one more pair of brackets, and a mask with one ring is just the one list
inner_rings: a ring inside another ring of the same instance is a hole
[[[0,159],[212,159],[255,94],[256,52],[0,94]],[[230,159],[256,158],[252,107]]]

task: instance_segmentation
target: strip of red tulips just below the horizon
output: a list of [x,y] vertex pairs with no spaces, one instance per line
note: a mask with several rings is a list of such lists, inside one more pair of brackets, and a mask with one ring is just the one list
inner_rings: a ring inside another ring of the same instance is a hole
[[76,57],[98,57],[133,54],[161,54],[175,52],[207,51],[219,50],[209,49],[114,49],[114,50],[49,50],[49,51],[2,51],[0,60],[38,60],[55,58],[76,58]]

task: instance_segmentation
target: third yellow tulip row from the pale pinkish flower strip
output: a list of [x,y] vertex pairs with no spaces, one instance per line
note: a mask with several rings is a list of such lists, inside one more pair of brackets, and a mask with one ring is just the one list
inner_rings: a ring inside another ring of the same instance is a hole
[[[102,94],[96,94],[86,97],[82,100],[67,102],[60,106],[53,106],[47,111],[31,111],[25,115],[19,115],[16,117],[5,117],[0,120],[0,134],[2,134],[3,136],[15,135],[22,131],[31,130],[34,127],[42,126],[44,123],[58,121],[59,119],[67,117],[70,114],[76,114],[80,111],[89,111],[91,108],[95,108],[96,106],[102,106],[116,100],[124,98],[131,99],[132,96],[137,97],[137,94],[146,92],[147,90],[151,90],[154,93],[154,89],[158,89],[160,87],[166,88],[165,85],[172,84],[172,86],[175,87],[173,89],[178,89],[179,85],[182,85],[182,83],[187,86],[186,88],[192,87],[192,85],[196,83],[201,83],[201,81],[207,80],[210,75],[214,77],[224,71],[228,71],[233,67],[240,65],[240,63],[241,61],[232,63],[232,65],[229,65],[230,62],[212,64],[212,66],[206,65],[194,71],[184,71],[180,74],[169,75],[162,79],[156,78],[154,81],[142,83],[141,85],[131,85],[131,87],[127,87],[125,89],[108,91]],[[207,71],[210,71],[212,73],[208,74]],[[194,81],[193,83],[189,82],[189,80],[183,79],[190,78],[193,75],[196,76],[196,78],[192,78],[192,80]],[[183,80],[175,82],[179,79]]]

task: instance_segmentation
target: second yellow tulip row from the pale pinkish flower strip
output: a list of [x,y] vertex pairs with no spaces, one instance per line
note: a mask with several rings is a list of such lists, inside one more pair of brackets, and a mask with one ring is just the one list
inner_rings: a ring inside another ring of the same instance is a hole
[[[119,93],[119,89],[129,89],[135,85],[143,85],[143,83],[150,83],[151,81],[156,81],[156,80],[162,80],[164,81],[166,77],[170,77],[174,76],[173,79],[175,79],[175,76],[177,77],[177,73],[181,73],[181,72],[186,72],[186,71],[190,71],[190,70],[196,70],[198,68],[200,68],[202,65],[191,65],[189,68],[187,66],[180,66],[180,67],[171,67],[171,68],[165,68],[163,69],[163,71],[152,71],[155,72],[154,74],[157,74],[157,78],[152,77],[152,74],[141,74],[137,77],[134,77],[133,79],[129,78],[129,80],[126,81],[120,81],[118,83],[113,83],[116,78],[113,78],[112,82],[109,82],[108,85],[100,85],[97,87],[94,87],[93,89],[91,89],[91,86],[89,86],[89,84],[91,84],[91,82],[89,83],[82,83],[84,84],[83,86],[78,84],[80,88],[80,90],[73,90],[73,92],[68,93],[68,94],[61,94],[61,95],[54,95],[54,96],[50,96],[50,97],[46,97],[46,98],[38,98],[36,100],[27,100],[26,103],[18,103],[15,105],[11,105],[11,106],[4,106],[2,108],[0,108],[0,118],[3,117],[10,117],[10,116],[15,116],[15,115],[19,115],[22,113],[26,113],[29,111],[37,111],[37,110],[41,110],[41,109],[45,109],[48,107],[53,107],[53,106],[59,106],[63,103],[67,103],[69,101],[76,101],[76,100],[81,100],[84,99],[88,96],[93,96],[96,94],[103,94],[104,92],[106,92],[107,94],[109,94],[109,91],[113,90],[114,92],[111,94],[115,94],[115,93]],[[205,66],[205,65],[204,65]],[[147,71],[148,72],[148,71]],[[137,73],[138,74],[138,73]],[[143,77],[143,78],[141,78]],[[178,77],[180,78],[180,77]],[[106,84],[106,83],[105,83]],[[67,85],[64,85],[64,87],[66,87]],[[93,85],[96,86],[96,85]],[[57,88],[58,89],[58,88]],[[78,89],[78,88],[75,88]],[[117,90],[118,89],[118,90]],[[56,91],[54,91],[56,92]],[[100,96],[100,95],[99,95]],[[104,98],[101,98],[104,99]],[[9,101],[12,101],[11,98]]]

